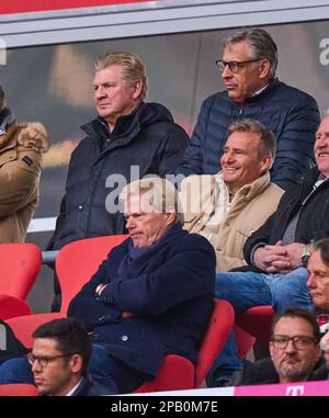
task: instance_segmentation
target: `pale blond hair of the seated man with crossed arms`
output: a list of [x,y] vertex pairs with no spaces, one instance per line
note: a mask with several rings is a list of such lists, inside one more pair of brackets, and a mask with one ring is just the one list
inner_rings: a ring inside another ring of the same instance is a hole
[[168,213],[169,208],[175,212],[174,221],[178,224],[184,224],[184,215],[181,212],[181,202],[174,185],[160,177],[145,177],[125,185],[118,195],[122,202],[125,202],[132,195],[141,195],[147,193],[149,202],[161,213]]

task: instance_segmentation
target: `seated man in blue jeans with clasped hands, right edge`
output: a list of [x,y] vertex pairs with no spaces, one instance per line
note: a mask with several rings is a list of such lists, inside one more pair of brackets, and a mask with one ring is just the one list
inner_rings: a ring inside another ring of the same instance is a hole
[[[317,131],[314,154],[317,167],[284,193],[276,212],[247,239],[248,266],[217,273],[215,295],[230,302],[237,315],[260,305],[272,305],[276,313],[288,306],[314,307],[306,267],[313,242],[329,237],[329,116]],[[231,336],[213,368],[213,381],[240,365]]]

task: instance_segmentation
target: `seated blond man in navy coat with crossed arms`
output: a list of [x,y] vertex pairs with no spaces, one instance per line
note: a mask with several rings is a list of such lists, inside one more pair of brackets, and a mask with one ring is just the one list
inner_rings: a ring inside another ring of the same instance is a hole
[[[91,376],[126,393],[157,376],[167,354],[196,362],[213,312],[216,256],[206,238],[182,229],[169,181],[137,180],[122,197],[131,238],[111,251],[68,315],[92,335]],[[0,383],[24,382],[22,362],[3,363]]]

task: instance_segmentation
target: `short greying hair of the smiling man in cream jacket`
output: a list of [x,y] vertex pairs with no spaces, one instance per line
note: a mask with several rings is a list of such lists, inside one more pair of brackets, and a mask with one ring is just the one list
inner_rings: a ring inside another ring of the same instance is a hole
[[263,158],[266,155],[270,155],[274,160],[276,151],[275,136],[273,132],[265,127],[262,123],[252,118],[241,118],[234,122],[228,127],[228,136],[230,136],[234,132],[250,132],[258,134],[260,138],[260,147],[258,149],[259,157]]

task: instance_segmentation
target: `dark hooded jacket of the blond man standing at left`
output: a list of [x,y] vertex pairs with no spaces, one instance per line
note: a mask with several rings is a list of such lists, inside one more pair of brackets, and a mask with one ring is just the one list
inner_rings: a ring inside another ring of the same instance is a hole
[[131,182],[131,167],[139,168],[132,180],[173,173],[189,144],[184,129],[158,103],[141,103],[131,115],[120,117],[112,133],[101,117],[81,128],[87,137],[71,155],[48,250],[77,239],[125,233],[123,214],[110,212],[111,202],[115,204],[123,185]]

